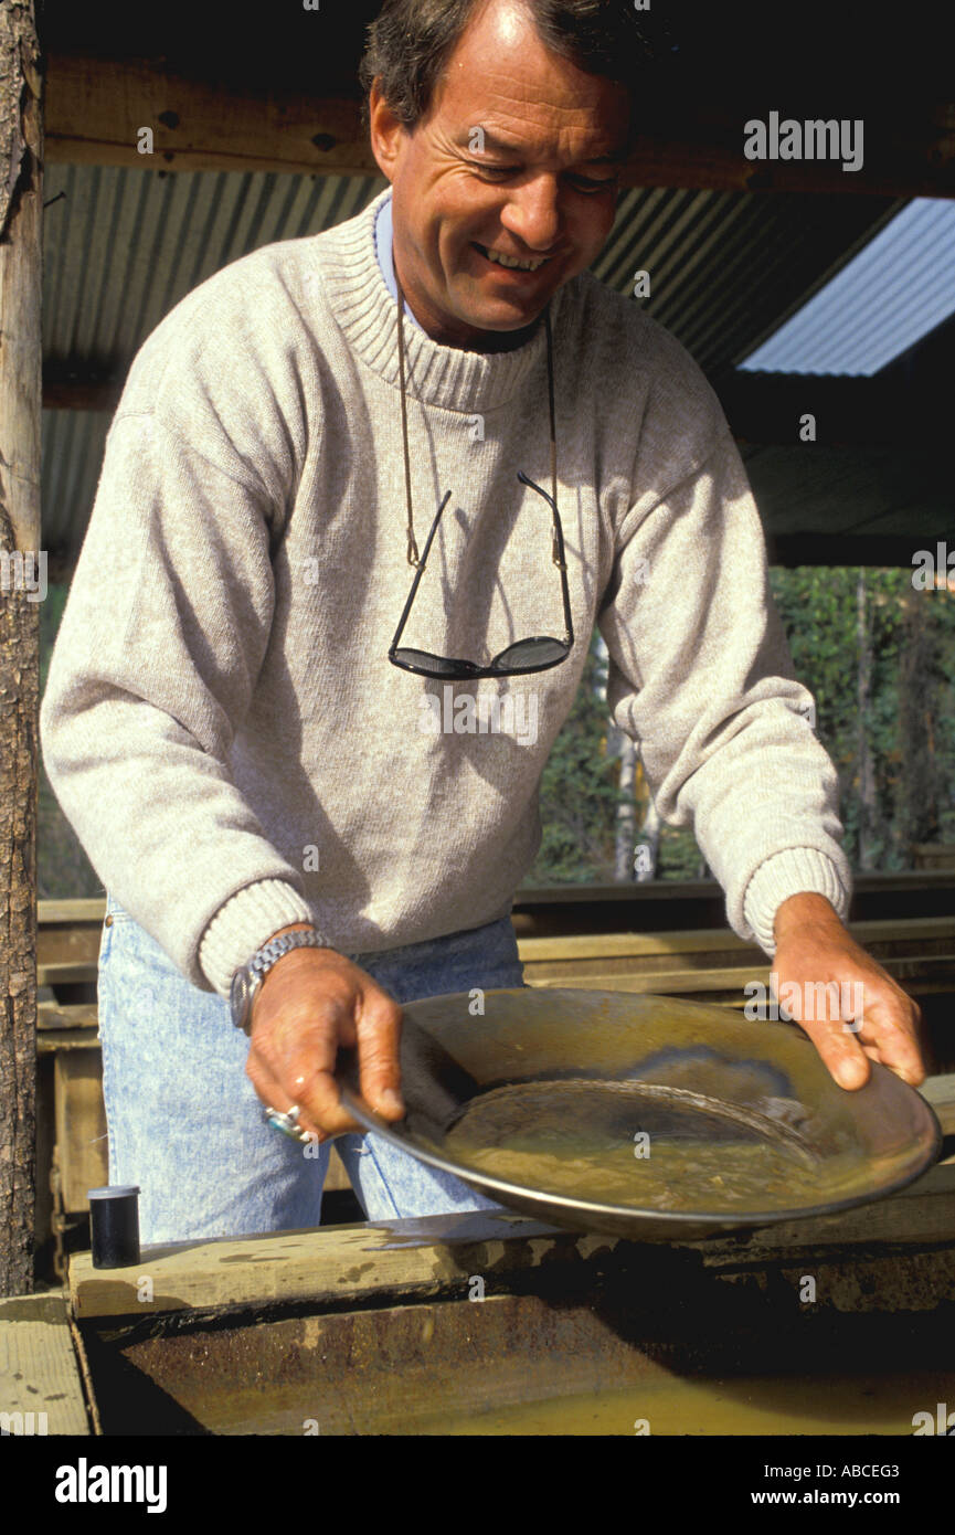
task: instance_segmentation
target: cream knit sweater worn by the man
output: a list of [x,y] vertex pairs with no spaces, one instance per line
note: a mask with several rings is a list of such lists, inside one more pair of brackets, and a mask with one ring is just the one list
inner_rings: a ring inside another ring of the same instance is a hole
[[[553,302],[570,659],[454,685],[388,663],[413,571],[379,201],[232,262],[134,361],[40,717],[104,886],[221,995],[287,923],[355,955],[505,915],[599,622],[613,717],[735,932],[771,953],[798,890],[844,916],[837,775],[719,402],[591,275]],[[550,511],[516,477],[550,488],[544,328],[496,355],[405,341],[419,546],[453,494],[402,643],[562,634]]]

